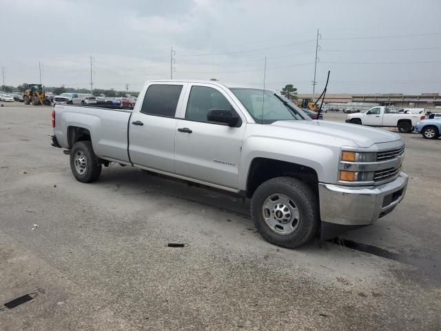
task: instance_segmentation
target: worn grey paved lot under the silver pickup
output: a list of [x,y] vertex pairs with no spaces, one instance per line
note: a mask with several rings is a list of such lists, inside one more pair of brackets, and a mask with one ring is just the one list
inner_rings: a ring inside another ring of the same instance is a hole
[[394,212],[285,250],[249,201],[119,165],[75,181],[51,112],[0,108],[0,304],[38,294],[0,330],[441,330],[441,139],[402,135]]

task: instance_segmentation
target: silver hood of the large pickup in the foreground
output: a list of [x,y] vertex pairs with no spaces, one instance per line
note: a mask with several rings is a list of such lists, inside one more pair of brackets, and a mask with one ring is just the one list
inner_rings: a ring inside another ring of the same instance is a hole
[[331,121],[276,121],[272,123],[271,126],[291,128],[339,139],[347,139],[362,148],[369,148],[374,143],[387,143],[401,139],[398,134],[386,130]]

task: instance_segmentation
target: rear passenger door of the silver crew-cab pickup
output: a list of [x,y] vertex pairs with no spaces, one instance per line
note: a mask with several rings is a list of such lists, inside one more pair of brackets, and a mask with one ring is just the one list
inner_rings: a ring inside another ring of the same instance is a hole
[[140,95],[129,121],[129,153],[133,164],[174,173],[176,111],[187,83],[152,82]]

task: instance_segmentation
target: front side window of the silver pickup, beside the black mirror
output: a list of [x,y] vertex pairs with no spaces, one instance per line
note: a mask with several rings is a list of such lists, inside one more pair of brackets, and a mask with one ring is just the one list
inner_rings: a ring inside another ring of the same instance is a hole
[[193,86],[188,98],[185,119],[207,122],[208,111],[212,109],[236,112],[228,100],[218,90],[205,86]]

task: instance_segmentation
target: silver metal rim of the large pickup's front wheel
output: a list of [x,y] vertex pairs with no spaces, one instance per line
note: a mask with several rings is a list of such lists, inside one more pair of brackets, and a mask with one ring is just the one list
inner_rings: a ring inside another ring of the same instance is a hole
[[265,223],[277,234],[291,234],[300,223],[296,203],[285,194],[276,193],[267,197],[263,203],[262,213]]

